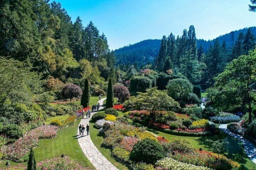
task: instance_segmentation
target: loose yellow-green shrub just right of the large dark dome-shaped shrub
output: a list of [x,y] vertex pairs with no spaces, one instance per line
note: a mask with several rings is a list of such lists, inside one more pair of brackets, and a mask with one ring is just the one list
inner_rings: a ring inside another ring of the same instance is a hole
[[181,153],[191,153],[194,151],[191,142],[183,138],[172,138],[169,143],[165,143],[162,145],[167,153],[172,153],[173,151],[179,151]]

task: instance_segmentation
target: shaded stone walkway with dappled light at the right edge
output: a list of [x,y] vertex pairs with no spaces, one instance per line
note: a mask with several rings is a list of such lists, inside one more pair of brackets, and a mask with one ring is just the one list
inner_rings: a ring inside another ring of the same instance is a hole
[[252,144],[247,139],[244,139],[242,136],[232,133],[227,128],[227,124],[219,125],[219,129],[224,131],[225,133],[229,134],[230,136],[238,139],[239,141],[241,141],[244,145],[244,150],[245,150],[246,155],[251,159],[252,162],[256,163],[256,148],[255,148],[254,144]]

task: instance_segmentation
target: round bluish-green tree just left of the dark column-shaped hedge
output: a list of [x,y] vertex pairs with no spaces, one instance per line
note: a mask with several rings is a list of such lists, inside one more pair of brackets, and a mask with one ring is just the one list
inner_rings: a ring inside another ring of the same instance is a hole
[[169,80],[167,86],[169,96],[174,100],[182,100],[193,91],[193,85],[187,79],[172,79]]

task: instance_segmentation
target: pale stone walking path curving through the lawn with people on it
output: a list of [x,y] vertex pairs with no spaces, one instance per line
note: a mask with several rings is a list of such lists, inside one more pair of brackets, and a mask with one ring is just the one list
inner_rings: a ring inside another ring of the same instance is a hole
[[[98,101],[100,103],[100,109],[103,108],[103,101],[105,99],[106,98],[102,98],[101,100]],[[94,115],[95,113],[97,113],[97,112],[91,112],[91,116]],[[86,115],[86,113],[85,113],[85,115]],[[86,116],[85,116],[85,119],[81,119],[80,124],[86,126],[87,124],[89,124],[90,119],[91,119],[91,117],[90,118],[86,118]],[[78,127],[77,127],[77,135],[79,135]],[[85,131],[85,135],[86,135],[86,131]],[[83,136],[83,137],[80,135],[78,137],[78,143],[79,143],[81,149],[83,150],[83,152],[85,153],[86,157],[89,159],[89,161],[92,163],[92,165],[97,170],[103,170],[103,169],[116,170],[117,169],[95,147],[95,145],[91,141],[90,135],[86,135],[86,136]]]

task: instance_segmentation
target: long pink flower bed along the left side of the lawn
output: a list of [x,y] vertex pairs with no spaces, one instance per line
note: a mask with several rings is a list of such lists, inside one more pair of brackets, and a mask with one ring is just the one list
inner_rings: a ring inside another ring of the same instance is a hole
[[14,162],[24,162],[24,155],[30,150],[38,146],[38,140],[41,138],[53,138],[57,134],[57,126],[42,125],[31,131],[28,131],[24,137],[19,138],[13,144],[5,145],[1,148],[2,153],[6,154],[6,158]]

